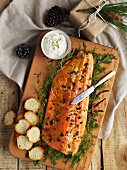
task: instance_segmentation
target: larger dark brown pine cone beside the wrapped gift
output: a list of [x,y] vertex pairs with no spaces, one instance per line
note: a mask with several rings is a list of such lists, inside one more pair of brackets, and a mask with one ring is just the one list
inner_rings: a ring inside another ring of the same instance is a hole
[[65,8],[54,6],[51,9],[49,9],[44,23],[47,27],[57,26],[64,21],[64,17],[66,15],[67,10]]

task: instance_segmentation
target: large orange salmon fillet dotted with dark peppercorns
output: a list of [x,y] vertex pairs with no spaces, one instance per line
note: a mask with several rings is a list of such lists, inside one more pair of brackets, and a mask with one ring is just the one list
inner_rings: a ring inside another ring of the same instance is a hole
[[91,85],[93,56],[79,51],[55,76],[44,118],[42,139],[64,154],[76,154],[85,131],[89,96],[72,100]]

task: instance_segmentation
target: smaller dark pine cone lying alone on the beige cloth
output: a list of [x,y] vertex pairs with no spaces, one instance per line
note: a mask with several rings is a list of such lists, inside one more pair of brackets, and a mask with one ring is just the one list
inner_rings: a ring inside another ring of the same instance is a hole
[[26,44],[20,44],[16,49],[16,55],[21,58],[28,58],[30,56],[30,48]]

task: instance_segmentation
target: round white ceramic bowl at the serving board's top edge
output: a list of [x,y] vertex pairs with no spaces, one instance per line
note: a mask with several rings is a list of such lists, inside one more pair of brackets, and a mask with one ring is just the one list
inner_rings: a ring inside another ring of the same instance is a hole
[[[62,44],[62,42],[60,43],[61,39],[60,39],[59,42],[56,40],[57,43],[59,43],[59,45],[55,44],[56,41],[54,43],[52,40],[50,40],[50,43],[49,43],[48,42],[49,38],[54,36],[54,35],[57,35],[57,37],[59,35],[62,36],[65,46],[61,45]],[[52,45],[51,45],[51,42],[52,42]],[[54,46],[53,46],[53,43],[55,44]],[[49,52],[50,48],[51,48],[51,52]],[[53,50],[53,48],[54,48],[54,50]],[[42,49],[42,52],[44,53],[44,55],[46,57],[50,58],[50,59],[54,59],[54,60],[62,59],[69,53],[69,51],[71,49],[71,40],[70,40],[69,36],[65,32],[63,32],[61,30],[53,30],[53,31],[50,31],[50,32],[46,33],[44,35],[44,37],[42,38],[41,49]],[[57,51],[55,51],[55,50],[61,50],[61,51],[60,51],[60,53],[59,53],[59,51],[57,53]],[[64,50],[64,51],[62,52],[62,50]],[[55,52],[55,54],[53,54],[53,52]]]

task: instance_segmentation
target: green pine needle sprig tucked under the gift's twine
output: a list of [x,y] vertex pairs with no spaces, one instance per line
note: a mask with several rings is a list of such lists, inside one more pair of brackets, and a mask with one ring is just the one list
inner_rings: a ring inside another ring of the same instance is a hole
[[[79,9],[77,12],[83,13],[94,13],[95,8],[88,9]],[[99,11],[101,17],[116,30],[116,27],[119,28],[122,32],[127,33],[127,2],[115,3],[115,4],[106,4]],[[100,17],[99,15],[97,15]]]

